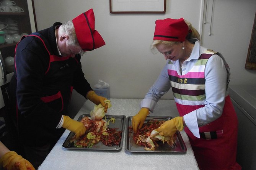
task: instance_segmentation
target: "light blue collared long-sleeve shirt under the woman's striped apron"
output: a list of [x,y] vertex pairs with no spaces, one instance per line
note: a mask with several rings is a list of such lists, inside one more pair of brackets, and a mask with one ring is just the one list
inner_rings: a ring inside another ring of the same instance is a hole
[[[199,56],[206,49],[200,47],[198,41],[195,42],[191,56],[182,65],[182,75],[190,71]],[[140,107],[147,107],[151,112],[154,112],[158,100],[170,90],[171,83],[167,71],[168,61],[158,76],[158,79],[141,101]],[[179,60],[172,62],[176,66],[178,74],[181,75]],[[200,126],[210,123],[222,115],[225,96],[228,95],[226,87],[227,71],[223,59],[218,55],[213,55],[205,65],[205,106],[183,116],[186,126],[196,137],[199,138]]]

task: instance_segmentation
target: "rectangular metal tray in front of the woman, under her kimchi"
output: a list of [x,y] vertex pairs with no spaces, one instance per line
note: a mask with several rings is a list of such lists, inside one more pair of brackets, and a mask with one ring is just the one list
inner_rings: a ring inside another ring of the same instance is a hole
[[[170,120],[172,117],[170,116],[152,116],[147,117],[145,122],[148,120]],[[132,139],[133,130],[129,129],[130,125],[132,125],[132,116],[128,116],[126,118],[126,141],[125,141],[125,150],[127,152],[171,152],[171,153],[183,153],[187,151],[186,145],[183,141],[183,138],[179,131],[176,132],[177,139],[174,146],[169,146],[167,143],[158,142],[158,147],[155,148],[155,151],[146,151],[144,146],[139,146]]]

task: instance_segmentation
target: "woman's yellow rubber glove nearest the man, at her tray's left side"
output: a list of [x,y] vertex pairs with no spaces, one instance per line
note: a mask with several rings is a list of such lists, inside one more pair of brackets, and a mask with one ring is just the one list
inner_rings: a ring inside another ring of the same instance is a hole
[[147,115],[149,115],[149,109],[147,107],[142,107],[140,111],[132,117],[132,129],[134,133],[137,133],[137,130],[142,127]]

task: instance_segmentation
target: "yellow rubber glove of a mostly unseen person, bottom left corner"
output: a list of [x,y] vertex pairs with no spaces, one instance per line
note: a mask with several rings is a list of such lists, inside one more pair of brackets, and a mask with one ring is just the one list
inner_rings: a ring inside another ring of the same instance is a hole
[[7,152],[0,159],[5,170],[35,170],[33,165],[14,151]]

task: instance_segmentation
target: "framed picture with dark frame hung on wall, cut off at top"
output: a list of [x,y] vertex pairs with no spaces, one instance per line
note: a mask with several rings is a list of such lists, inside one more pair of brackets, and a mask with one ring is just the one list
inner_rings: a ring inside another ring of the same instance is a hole
[[166,0],[109,0],[109,11],[116,13],[165,13]]

